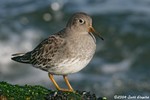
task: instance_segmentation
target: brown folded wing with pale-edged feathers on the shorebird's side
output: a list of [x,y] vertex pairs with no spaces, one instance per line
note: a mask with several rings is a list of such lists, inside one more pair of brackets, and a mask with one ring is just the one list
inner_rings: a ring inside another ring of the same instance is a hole
[[65,41],[59,35],[52,35],[42,41],[33,51],[31,51],[31,63],[36,66],[46,66],[52,61],[59,48]]

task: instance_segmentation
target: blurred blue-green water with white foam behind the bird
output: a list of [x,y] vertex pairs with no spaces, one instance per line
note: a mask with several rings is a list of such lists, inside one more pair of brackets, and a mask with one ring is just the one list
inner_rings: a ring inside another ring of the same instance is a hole
[[47,72],[16,63],[11,54],[32,50],[77,11],[92,16],[105,40],[97,38],[90,64],[69,75],[72,86],[108,98],[150,96],[150,0],[1,0],[0,81],[55,89]]

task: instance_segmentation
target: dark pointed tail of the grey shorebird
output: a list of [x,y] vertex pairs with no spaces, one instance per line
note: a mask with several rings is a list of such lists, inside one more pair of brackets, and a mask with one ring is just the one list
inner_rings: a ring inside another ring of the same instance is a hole
[[29,53],[17,53],[12,54],[12,60],[20,63],[30,63],[30,54]]

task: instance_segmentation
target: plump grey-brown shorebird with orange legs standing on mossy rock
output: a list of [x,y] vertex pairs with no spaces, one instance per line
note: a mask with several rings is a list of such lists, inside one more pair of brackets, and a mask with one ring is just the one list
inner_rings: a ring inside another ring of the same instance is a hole
[[[32,51],[12,54],[11,59],[48,72],[58,91],[73,92],[67,76],[79,72],[91,61],[96,50],[95,35],[104,40],[93,28],[92,18],[84,12],[76,12],[65,28],[50,35]],[[61,88],[54,75],[63,76],[68,88]]]

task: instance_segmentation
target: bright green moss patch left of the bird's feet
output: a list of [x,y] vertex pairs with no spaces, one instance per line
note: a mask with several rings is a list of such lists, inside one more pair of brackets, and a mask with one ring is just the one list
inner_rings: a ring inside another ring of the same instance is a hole
[[[41,86],[19,86],[19,85],[11,85],[6,82],[0,82],[0,94],[6,96],[8,99],[28,99],[30,100],[38,100],[44,98],[46,94],[52,91],[41,87]],[[41,99],[42,100],[42,99]],[[44,100],[44,99],[43,99]]]

